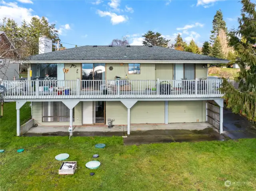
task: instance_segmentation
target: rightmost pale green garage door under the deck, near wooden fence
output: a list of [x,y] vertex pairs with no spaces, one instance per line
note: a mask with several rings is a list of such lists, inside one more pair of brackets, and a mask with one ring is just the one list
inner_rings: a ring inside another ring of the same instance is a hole
[[206,101],[169,101],[168,123],[206,121]]

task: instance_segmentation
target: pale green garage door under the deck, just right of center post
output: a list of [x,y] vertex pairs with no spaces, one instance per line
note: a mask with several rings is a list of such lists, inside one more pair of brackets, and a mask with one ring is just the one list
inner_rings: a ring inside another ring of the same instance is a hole
[[164,101],[137,101],[131,108],[131,123],[164,123]]

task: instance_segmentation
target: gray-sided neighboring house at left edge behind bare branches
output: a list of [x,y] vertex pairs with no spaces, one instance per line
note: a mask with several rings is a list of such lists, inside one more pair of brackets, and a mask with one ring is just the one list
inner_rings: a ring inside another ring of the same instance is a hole
[[[19,64],[11,63],[13,59],[12,49],[14,46],[3,31],[0,31],[0,79],[2,80],[13,80],[19,78]],[[0,82],[2,81],[0,80]]]

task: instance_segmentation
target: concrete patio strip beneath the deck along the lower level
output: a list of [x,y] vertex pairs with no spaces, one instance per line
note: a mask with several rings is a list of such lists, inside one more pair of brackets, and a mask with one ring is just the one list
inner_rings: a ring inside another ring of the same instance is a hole
[[[131,134],[137,131],[150,131],[150,130],[203,130],[212,127],[209,123],[169,123],[169,124],[131,124]],[[217,129],[216,129],[217,131]],[[25,136],[44,136],[56,135],[67,136],[68,126],[38,126],[32,127],[25,133]],[[84,125],[74,126],[73,136],[112,136],[112,135],[127,135],[127,125],[115,125],[108,128],[106,125]]]

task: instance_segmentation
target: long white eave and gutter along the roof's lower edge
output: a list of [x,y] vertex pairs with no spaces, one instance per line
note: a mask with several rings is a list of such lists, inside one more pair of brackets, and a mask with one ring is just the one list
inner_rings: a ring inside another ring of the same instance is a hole
[[228,60],[24,60],[20,61],[28,64],[56,64],[56,63],[152,63],[152,64],[172,64],[172,63],[202,63],[202,64],[227,64]]

